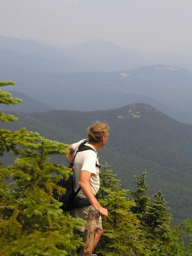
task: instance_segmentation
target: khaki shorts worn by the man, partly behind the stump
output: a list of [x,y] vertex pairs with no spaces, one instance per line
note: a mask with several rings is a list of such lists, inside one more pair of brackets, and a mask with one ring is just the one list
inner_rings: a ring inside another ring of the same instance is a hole
[[[88,214],[89,214],[89,211],[91,209],[95,209],[92,205],[90,206],[86,206],[86,207],[82,207],[82,208],[75,208],[72,210],[72,217],[74,218],[80,218],[80,219],[83,219],[83,220],[86,220],[88,219]],[[81,227],[79,229],[80,232],[84,232],[84,228],[85,227]],[[102,230],[102,219],[101,219],[101,216],[99,217],[99,222],[98,222],[98,226],[96,229],[101,229]]]

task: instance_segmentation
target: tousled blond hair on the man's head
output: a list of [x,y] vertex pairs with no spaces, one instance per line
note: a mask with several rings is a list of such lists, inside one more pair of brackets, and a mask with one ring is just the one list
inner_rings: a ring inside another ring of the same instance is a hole
[[92,142],[100,142],[103,136],[109,135],[110,126],[106,123],[96,122],[88,127],[88,138]]

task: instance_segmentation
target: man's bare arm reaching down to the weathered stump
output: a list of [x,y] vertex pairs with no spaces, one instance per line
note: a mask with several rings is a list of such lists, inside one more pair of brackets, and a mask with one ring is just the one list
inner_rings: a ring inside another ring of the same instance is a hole
[[101,216],[106,217],[108,216],[108,210],[102,207],[95,198],[95,195],[91,189],[90,178],[91,173],[87,172],[86,170],[81,170],[79,186],[93,207],[100,212]]

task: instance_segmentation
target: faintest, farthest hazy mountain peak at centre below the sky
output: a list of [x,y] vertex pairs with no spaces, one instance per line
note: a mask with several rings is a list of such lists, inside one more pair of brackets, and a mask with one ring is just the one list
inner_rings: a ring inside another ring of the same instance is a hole
[[127,70],[144,65],[144,58],[137,50],[100,39],[69,48],[66,55],[79,63],[78,72]]

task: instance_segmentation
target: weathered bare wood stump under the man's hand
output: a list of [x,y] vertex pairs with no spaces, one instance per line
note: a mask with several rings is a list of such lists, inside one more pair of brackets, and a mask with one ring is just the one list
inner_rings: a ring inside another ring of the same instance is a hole
[[86,245],[81,249],[80,256],[90,256],[93,252],[95,230],[98,226],[99,216],[100,214],[98,210],[90,210],[86,228],[84,229],[83,241]]

